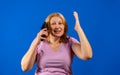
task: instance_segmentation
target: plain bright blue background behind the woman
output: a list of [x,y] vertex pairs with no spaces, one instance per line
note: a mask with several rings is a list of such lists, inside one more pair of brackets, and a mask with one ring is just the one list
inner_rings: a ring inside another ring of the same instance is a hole
[[21,58],[52,12],[62,13],[74,31],[73,11],[91,43],[93,58],[74,58],[74,75],[120,75],[120,0],[1,0],[0,75],[34,75],[36,66],[21,70]]

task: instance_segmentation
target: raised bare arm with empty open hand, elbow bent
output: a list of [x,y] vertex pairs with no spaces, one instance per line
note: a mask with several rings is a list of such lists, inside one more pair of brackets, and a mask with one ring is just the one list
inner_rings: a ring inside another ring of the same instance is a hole
[[75,24],[75,30],[78,33],[79,39],[81,40],[80,43],[75,43],[72,46],[73,52],[81,59],[83,60],[88,60],[92,58],[92,48],[91,45],[83,32],[80,22],[79,22],[79,17],[77,12],[74,12],[74,17],[76,20]]

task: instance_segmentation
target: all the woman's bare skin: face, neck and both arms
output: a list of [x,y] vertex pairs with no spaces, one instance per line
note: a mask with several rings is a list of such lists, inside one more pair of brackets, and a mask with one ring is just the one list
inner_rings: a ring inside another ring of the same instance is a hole
[[[81,42],[75,43],[72,45],[72,50],[75,53],[78,58],[83,59],[83,60],[88,60],[92,58],[92,48],[90,46],[89,41],[87,40],[79,22],[79,17],[78,13],[74,12],[73,13],[76,23],[74,29],[78,33],[79,39]],[[40,44],[40,40],[48,40],[50,41],[49,45],[50,47],[56,51],[58,47],[60,46],[60,37],[64,33],[64,25],[62,23],[62,19],[59,17],[52,17],[50,20],[50,27],[51,27],[51,33],[48,36],[47,29],[42,29],[36,36],[36,38],[33,40],[30,48],[26,52],[26,54],[23,56],[22,61],[21,61],[21,67],[23,71],[28,71],[32,69],[35,61],[36,61],[36,47]],[[42,34],[45,34],[48,36],[48,38],[43,38],[41,37]]]

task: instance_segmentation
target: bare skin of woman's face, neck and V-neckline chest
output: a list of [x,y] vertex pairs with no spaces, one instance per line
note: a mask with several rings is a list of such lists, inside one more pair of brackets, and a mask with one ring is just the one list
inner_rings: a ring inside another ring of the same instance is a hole
[[64,34],[62,19],[55,16],[50,20],[51,34],[48,36],[50,47],[56,51],[60,46],[60,37]]

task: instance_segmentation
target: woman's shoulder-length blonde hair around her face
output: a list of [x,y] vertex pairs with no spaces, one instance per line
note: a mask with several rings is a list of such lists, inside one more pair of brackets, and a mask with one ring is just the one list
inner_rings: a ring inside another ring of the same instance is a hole
[[50,31],[51,31],[50,20],[54,16],[61,18],[63,25],[65,25],[64,26],[64,34],[61,36],[60,42],[67,43],[68,42],[68,38],[67,38],[68,25],[67,25],[67,22],[66,22],[64,16],[61,13],[58,13],[58,12],[52,13],[52,14],[48,15],[48,17],[46,18],[45,22],[47,24],[48,34],[50,34]]

